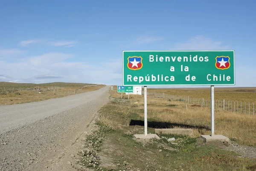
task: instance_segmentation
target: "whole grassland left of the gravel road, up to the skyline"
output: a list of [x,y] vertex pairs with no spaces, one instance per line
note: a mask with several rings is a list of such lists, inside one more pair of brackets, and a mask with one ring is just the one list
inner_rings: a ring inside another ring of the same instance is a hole
[[[82,83],[47,83],[47,84],[20,84],[20,83],[6,83],[1,82],[0,87],[5,88],[24,88],[24,87],[34,87],[37,88],[36,91],[18,91],[14,93],[0,93],[0,105],[7,104],[21,104],[35,101],[42,101],[47,99],[60,98],[64,96],[70,96],[78,93],[85,93],[87,91],[98,90],[105,85],[96,84],[82,84]],[[84,87],[88,86],[88,87]],[[48,90],[47,88],[50,87]],[[63,87],[62,89],[51,89],[52,87]],[[38,88],[41,88],[41,93],[38,93]]]

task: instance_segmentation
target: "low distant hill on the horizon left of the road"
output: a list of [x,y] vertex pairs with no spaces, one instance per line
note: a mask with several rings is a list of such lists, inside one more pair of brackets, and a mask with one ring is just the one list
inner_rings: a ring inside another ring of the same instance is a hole
[[87,84],[87,83],[65,83],[65,82],[53,82],[53,83],[43,83],[43,84],[33,84],[33,83],[12,83],[12,82],[0,82],[0,87],[83,87],[85,85],[96,85],[96,84]]

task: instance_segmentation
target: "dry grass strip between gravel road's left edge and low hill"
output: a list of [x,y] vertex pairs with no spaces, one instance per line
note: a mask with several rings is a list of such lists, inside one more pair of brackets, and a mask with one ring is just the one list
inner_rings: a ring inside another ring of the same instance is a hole
[[[49,84],[50,85],[50,84]],[[56,86],[60,86],[56,85]],[[84,85],[84,84],[83,84]],[[28,103],[28,102],[35,102],[35,101],[42,101],[47,99],[54,99],[54,98],[60,98],[64,96],[70,96],[78,93],[85,93],[88,91],[98,90],[105,85],[97,85],[97,86],[91,86],[91,87],[84,87],[82,90],[82,87],[64,87],[64,89],[56,89],[56,90],[46,90],[41,91],[41,93],[38,93],[37,91],[20,91],[16,93],[2,93],[0,94],[0,105],[7,105],[7,104],[21,104],[21,103]],[[39,87],[42,88],[43,87]]]

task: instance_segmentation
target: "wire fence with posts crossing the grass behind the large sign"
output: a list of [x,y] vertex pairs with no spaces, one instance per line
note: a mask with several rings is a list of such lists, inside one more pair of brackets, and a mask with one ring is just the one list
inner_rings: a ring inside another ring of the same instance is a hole
[[[144,94],[144,92],[143,92]],[[147,92],[148,95],[166,98],[175,101],[183,101],[187,104],[198,105],[200,107],[211,107],[211,100],[204,98],[195,98],[191,96],[177,96],[158,92]],[[230,101],[230,100],[214,100],[215,110],[226,110],[235,113],[243,113],[254,115],[254,103]]]

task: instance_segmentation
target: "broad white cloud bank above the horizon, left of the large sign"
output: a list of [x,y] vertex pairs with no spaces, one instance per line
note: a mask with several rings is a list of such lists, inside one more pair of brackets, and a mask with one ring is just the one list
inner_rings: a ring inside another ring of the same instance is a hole
[[[122,78],[122,72],[116,71],[116,65],[66,61],[70,58],[75,56],[65,53],[46,53],[16,62],[0,61],[2,66],[0,80],[31,83],[64,81],[111,84],[113,79]],[[118,70],[121,70],[122,65],[119,65]]]

